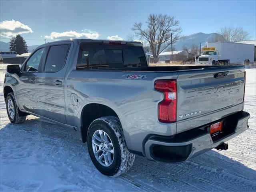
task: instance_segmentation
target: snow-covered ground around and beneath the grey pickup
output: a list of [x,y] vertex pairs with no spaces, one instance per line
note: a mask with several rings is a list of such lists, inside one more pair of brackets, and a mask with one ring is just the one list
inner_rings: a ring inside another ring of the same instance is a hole
[[250,128],[182,164],[136,156],[132,169],[108,178],[94,168],[78,132],[28,116],[10,124],[0,64],[0,191],[256,191],[256,69],[246,70],[245,110]]

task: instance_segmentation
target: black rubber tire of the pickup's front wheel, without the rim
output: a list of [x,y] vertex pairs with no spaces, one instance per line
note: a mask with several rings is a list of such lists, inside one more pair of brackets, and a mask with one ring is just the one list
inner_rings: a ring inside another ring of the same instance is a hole
[[[10,116],[9,112],[8,112],[8,101],[11,100],[12,104],[13,104],[13,113],[14,116],[13,118]],[[10,122],[14,123],[14,124],[19,124],[22,123],[26,120],[26,116],[19,116],[19,112],[18,112],[18,106],[14,97],[13,92],[8,93],[7,97],[6,97],[6,111],[7,111],[7,115],[8,118],[10,120]]]

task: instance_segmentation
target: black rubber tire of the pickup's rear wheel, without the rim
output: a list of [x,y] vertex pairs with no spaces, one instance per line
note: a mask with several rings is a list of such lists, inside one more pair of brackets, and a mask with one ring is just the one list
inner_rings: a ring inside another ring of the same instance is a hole
[[[92,137],[97,130],[106,132],[113,144],[114,157],[112,164],[108,167],[102,166],[94,156]],[[129,170],[134,163],[135,155],[128,151],[122,133],[121,123],[119,119],[114,116],[98,118],[90,124],[87,133],[87,146],[92,163],[106,176],[119,176]]]

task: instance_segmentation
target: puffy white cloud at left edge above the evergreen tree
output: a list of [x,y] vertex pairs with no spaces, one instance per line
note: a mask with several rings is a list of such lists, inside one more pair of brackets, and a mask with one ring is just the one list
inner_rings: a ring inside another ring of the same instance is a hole
[[0,22],[0,36],[10,38],[12,36],[16,36],[17,34],[32,33],[32,32],[33,31],[29,26],[19,21],[6,20],[6,21]]

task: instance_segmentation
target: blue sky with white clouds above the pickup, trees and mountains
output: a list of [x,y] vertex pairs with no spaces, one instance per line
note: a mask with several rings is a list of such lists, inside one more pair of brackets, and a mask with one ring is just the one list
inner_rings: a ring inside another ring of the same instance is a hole
[[[28,45],[44,38],[126,39],[135,22],[150,13],[176,16],[183,35],[238,27],[256,39],[256,0],[251,1],[0,1],[1,41],[17,32]],[[14,21],[13,21],[14,20]],[[4,22],[8,21],[8,22]],[[71,31],[71,32],[70,32]],[[56,32],[56,33],[52,33]],[[5,39],[7,38],[7,39]]]

